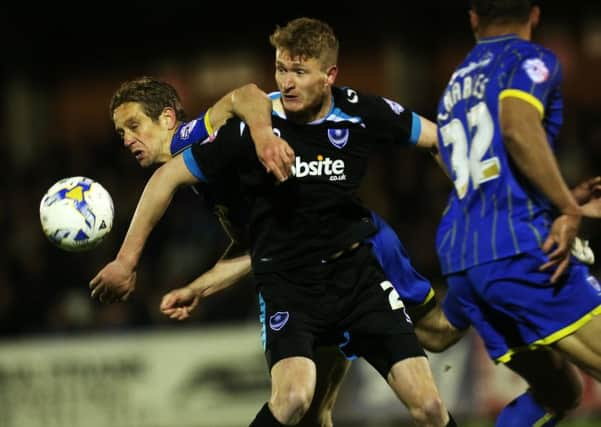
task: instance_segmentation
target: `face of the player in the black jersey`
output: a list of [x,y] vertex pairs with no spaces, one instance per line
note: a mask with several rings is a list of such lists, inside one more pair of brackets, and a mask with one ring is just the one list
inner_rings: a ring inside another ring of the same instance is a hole
[[276,50],[275,80],[282,94],[284,110],[293,115],[315,120],[330,91],[326,71],[316,58],[290,57],[287,51]]

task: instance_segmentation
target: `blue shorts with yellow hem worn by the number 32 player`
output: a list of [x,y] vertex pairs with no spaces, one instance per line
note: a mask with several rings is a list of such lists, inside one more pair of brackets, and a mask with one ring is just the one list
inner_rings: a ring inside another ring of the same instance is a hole
[[538,271],[545,262],[539,249],[448,275],[445,315],[458,329],[474,326],[496,362],[557,342],[601,313],[601,286],[575,259],[551,285]]

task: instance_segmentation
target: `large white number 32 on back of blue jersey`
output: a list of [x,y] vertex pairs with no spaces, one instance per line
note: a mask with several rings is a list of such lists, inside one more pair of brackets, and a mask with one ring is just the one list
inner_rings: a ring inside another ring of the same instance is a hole
[[[494,123],[484,102],[474,105],[467,113],[469,129],[459,119],[453,119],[440,128],[444,146],[453,144],[451,166],[455,172],[455,189],[460,199],[467,193],[470,177],[474,188],[499,176],[501,164],[498,157],[482,160],[492,143]],[[468,137],[476,128],[468,153]]]

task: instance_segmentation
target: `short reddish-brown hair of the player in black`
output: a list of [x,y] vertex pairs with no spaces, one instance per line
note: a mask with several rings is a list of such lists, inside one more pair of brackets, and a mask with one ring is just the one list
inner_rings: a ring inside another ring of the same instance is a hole
[[328,24],[313,18],[297,18],[284,27],[277,26],[269,36],[276,49],[287,51],[291,57],[316,58],[325,66],[338,61],[338,39]]

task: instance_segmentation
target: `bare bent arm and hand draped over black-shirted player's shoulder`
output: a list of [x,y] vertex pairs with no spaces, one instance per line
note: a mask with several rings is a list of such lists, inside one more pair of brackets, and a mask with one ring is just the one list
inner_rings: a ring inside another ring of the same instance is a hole
[[249,129],[257,156],[268,172],[284,181],[294,162],[294,151],[286,141],[274,135],[271,126],[271,100],[255,84],[247,84],[225,95],[209,110],[213,129],[222,126],[234,115]]

